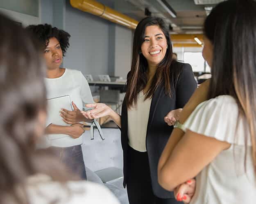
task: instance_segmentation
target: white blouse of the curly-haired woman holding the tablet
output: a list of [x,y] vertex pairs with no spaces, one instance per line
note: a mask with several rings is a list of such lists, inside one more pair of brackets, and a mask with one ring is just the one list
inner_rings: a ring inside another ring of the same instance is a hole
[[[59,78],[45,78],[47,99],[69,95],[70,100],[82,111],[84,104],[94,103],[89,84],[81,71],[65,69]],[[61,116],[59,116],[61,117]],[[52,122],[46,118],[46,126]],[[67,124],[68,125],[68,124]],[[83,133],[84,137],[90,137],[90,131]],[[82,144],[82,136],[74,139],[69,135],[52,134],[45,135],[44,140],[38,145],[39,148],[49,146],[68,147]]]

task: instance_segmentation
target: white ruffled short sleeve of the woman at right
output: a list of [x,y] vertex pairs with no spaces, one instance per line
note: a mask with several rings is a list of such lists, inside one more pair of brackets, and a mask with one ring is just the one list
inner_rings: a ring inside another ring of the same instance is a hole
[[230,144],[251,146],[248,125],[238,113],[236,100],[229,95],[221,95],[199,104],[182,129]]

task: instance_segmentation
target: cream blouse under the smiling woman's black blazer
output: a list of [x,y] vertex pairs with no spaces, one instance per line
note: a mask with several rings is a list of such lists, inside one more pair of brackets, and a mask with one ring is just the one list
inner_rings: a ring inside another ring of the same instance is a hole
[[147,122],[152,98],[145,100],[143,91],[138,94],[137,104],[127,109],[128,144],[133,149],[146,152]]

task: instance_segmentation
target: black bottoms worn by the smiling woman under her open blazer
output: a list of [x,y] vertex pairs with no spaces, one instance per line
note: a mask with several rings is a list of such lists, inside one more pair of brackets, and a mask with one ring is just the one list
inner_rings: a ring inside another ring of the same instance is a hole
[[153,193],[147,152],[128,147],[127,193],[130,204],[181,204],[175,198],[163,199]]

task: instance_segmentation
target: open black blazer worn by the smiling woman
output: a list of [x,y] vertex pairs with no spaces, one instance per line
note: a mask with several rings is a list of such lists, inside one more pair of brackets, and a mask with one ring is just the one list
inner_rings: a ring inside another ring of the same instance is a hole
[[[154,194],[160,198],[173,197],[173,193],[163,189],[158,184],[157,180],[157,165],[161,153],[163,152],[163,149],[173,129],[173,126],[168,126],[168,124],[164,122],[164,117],[171,110],[183,108],[197,88],[197,83],[195,82],[190,64],[174,61],[172,62],[171,70],[178,70],[180,73],[179,78],[174,80],[177,81],[177,83],[171,84],[172,98],[165,94],[164,85],[161,84],[153,94],[150,106],[150,115],[147,123],[146,147],[150,164],[152,188]],[[127,128],[127,104],[124,100],[121,115],[121,142],[124,157],[124,187],[126,186],[127,174],[129,173],[127,172],[127,165],[129,165],[127,164]]]

